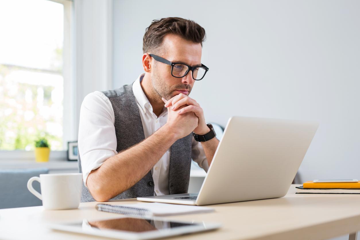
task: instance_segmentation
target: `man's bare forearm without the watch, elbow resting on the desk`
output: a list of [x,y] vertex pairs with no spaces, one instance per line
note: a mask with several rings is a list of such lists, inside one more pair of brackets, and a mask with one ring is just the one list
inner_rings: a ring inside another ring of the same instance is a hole
[[107,201],[143,178],[177,140],[166,125],[144,141],[108,158],[91,171],[87,186],[94,199]]

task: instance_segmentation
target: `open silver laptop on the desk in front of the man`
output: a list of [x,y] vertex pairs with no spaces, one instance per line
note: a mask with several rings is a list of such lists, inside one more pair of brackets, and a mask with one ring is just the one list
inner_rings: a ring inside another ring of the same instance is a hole
[[231,117],[199,193],[137,199],[208,205],[283,197],[318,126],[308,121]]

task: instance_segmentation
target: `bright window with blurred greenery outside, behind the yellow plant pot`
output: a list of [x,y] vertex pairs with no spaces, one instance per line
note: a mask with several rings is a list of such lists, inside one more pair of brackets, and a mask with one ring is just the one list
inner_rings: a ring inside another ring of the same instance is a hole
[[33,150],[39,137],[66,150],[74,140],[71,9],[68,0],[1,1],[0,150]]

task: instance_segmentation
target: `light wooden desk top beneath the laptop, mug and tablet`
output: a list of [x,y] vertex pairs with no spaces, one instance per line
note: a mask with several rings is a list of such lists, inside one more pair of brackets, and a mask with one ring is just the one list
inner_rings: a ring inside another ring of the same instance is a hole
[[[295,194],[292,185],[283,198],[211,205],[213,213],[169,219],[221,222],[222,228],[175,239],[329,239],[360,230],[360,195]],[[136,203],[134,199],[116,202]],[[113,202],[114,203],[114,202]],[[0,239],[96,239],[94,236],[53,231],[45,223],[102,218],[93,203],[79,209],[42,207],[0,209]],[[350,235],[356,237],[355,234]]]

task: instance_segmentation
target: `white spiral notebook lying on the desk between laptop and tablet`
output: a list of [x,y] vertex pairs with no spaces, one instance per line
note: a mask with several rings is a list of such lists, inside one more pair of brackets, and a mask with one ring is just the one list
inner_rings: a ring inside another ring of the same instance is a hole
[[171,216],[193,213],[213,212],[213,208],[168,203],[138,203],[138,204],[97,204],[96,209],[103,212],[119,213],[136,217]]

